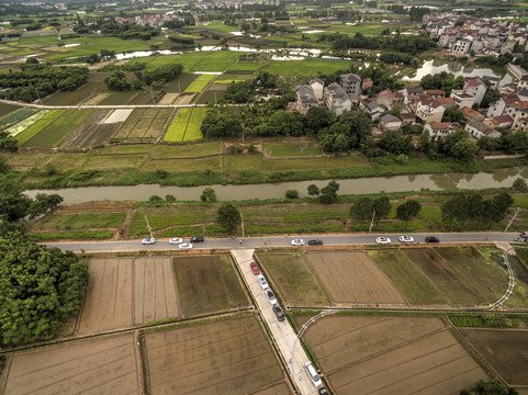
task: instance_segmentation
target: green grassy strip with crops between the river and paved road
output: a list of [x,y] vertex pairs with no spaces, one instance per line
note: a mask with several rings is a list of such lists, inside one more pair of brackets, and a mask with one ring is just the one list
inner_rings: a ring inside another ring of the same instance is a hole
[[[482,191],[485,199],[491,199],[501,190]],[[508,190],[512,192],[512,190]],[[397,221],[396,206],[405,199],[416,199],[422,204],[420,214],[407,224],[407,233],[413,232],[453,232],[478,227],[476,223],[467,222],[464,228],[453,224],[448,229],[441,221],[440,206],[443,202],[460,193],[459,191],[438,192],[395,192],[384,193],[390,198],[392,210],[386,219],[382,219],[377,232],[403,232],[404,223]],[[375,199],[381,194],[370,194]],[[521,232],[528,227],[528,194],[513,193],[514,207],[519,214],[510,230]],[[333,234],[368,230],[369,224],[362,225],[350,218],[352,203],[359,195],[340,195],[335,204],[318,203],[315,198],[301,200],[250,200],[234,202],[244,215],[246,236],[277,234]],[[66,204],[45,215],[33,224],[31,232],[40,240],[76,239],[133,239],[148,236],[145,223],[147,216],[156,237],[229,236],[216,223],[218,202],[90,202]],[[515,210],[512,210],[514,213]],[[513,215],[492,230],[504,230]],[[485,230],[484,226],[480,227]],[[239,230],[240,232],[240,230]],[[240,236],[240,235],[238,235]]]

